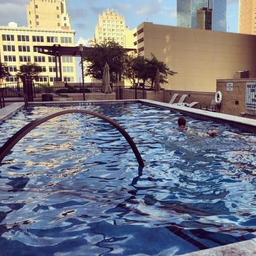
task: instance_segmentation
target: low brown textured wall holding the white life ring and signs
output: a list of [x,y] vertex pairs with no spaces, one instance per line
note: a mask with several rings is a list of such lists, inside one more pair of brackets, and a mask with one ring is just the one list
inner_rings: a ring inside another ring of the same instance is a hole
[[[227,91],[227,83],[233,83],[233,91]],[[248,116],[256,118],[256,111],[246,109],[246,83],[255,82],[256,79],[230,79],[218,80],[217,91],[222,94],[220,113],[229,115],[244,116],[241,113],[250,114]]]

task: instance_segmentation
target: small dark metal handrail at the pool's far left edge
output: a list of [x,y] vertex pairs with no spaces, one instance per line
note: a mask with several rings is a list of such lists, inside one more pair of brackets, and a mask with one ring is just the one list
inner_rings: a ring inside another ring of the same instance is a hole
[[[24,100],[12,100],[12,98],[14,97],[23,97]],[[24,101],[25,103],[25,108],[28,107],[28,97],[26,94],[19,92],[13,88],[10,87],[4,87],[4,88],[0,88],[0,108],[4,108],[6,103],[10,103],[10,102],[21,102]]]

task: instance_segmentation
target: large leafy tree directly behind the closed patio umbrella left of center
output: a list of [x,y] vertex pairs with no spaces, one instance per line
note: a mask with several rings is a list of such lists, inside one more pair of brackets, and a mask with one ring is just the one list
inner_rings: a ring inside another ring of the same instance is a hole
[[114,41],[92,42],[91,46],[93,49],[83,55],[87,61],[86,75],[102,79],[104,65],[108,63],[111,81],[120,81],[127,56],[123,47]]

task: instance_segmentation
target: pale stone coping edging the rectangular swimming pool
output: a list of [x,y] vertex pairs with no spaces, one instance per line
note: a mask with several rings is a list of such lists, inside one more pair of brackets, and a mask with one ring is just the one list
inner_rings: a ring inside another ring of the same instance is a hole
[[[63,106],[71,106],[82,104],[90,104],[90,103],[100,103],[106,102],[105,100],[93,100],[93,101],[66,101],[66,102],[29,102],[29,106],[54,106],[54,105],[63,105]],[[240,129],[243,129],[248,132],[256,132],[256,120],[250,118],[244,118],[233,115],[225,115],[221,113],[205,111],[202,109],[188,108],[184,106],[177,106],[173,104],[156,102],[154,100],[108,100],[108,104],[115,104],[118,102],[134,102],[134,103],[143,103],[151,106],[161,107],[165,109],[172,109],[173,111],[184,113],[185,115],[193,116],[195,118],[203,119],[203,120],[214,120],[216,122],[230,124]],[[17,102],[12,103],[6,108],[0,109],[0,122],[10,118],[10,116],[14,115],[20,109],[24,108],[24,103]],[[248,241],[227,244],[225,246],[218,246],[215,248],[200,250],[197,252],[186,253],[182,256],[251,256],[256,255],[256,238],[250,239]]]

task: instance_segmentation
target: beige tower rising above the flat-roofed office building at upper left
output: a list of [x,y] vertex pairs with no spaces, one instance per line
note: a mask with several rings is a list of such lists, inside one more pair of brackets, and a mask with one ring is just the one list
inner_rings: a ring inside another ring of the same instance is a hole
[[66,0],[30,0],[26,9],[28,28],[70,29]]

